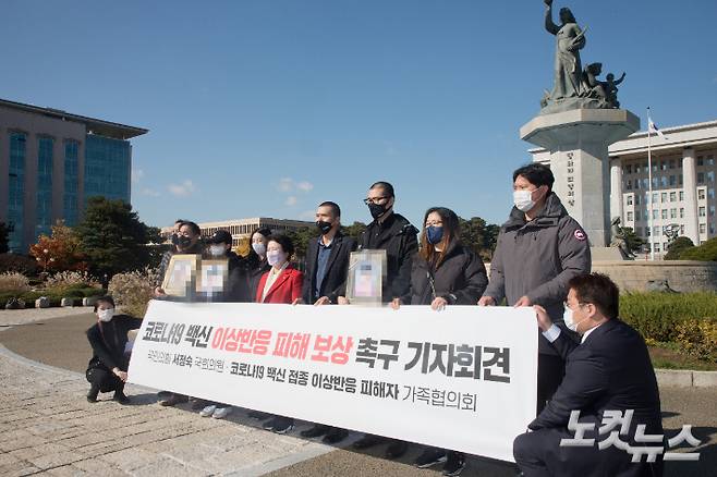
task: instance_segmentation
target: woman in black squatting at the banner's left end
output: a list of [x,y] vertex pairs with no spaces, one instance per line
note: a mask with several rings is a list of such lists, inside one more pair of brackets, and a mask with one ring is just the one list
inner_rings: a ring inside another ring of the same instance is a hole
[[114,391],[114,401],[127,404],[124,382],[127,379],[130,353],[125,352],[127,332],[136,330],[142,320],[126,315],[114,315],[114,299],[102,296],[95,304],[97,323],[87,330],[87,340],[93,347],[93,357],[85,372],[89,381],[87,401],[97,402],[97,394]]

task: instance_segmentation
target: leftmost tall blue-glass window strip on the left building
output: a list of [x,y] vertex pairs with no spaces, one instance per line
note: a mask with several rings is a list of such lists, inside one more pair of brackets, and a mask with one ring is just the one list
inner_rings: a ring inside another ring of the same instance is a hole
[[10,167],[8,170],[8,223],[13,227],[8,237],[8,247],[14,253],[25,254],[23,241],[23,217],[25,215],[25,151],[27,139],[23,133],[10,134]]

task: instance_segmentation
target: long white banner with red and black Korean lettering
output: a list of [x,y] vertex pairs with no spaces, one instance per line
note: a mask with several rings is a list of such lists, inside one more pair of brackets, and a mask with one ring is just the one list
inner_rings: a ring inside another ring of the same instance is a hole
[[151,302],[130,381],[513,461],[535,417],[531,308]]

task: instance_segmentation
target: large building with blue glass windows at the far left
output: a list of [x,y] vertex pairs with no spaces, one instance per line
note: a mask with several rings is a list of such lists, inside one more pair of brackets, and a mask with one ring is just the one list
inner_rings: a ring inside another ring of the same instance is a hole
[[92,196],[130,203],[132,146],[147,133],[52,108],[0,99],[0,222],[26,254],[58,220],[75,225]]

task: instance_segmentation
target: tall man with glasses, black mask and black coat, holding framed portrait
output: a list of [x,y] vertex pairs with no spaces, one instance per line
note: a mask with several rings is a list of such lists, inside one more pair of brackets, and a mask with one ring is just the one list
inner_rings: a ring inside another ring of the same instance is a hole
[[[403,216],[393,211],[396,195],[393,186],[388,182],[376,182],[368,188],[364,200],[374,221],[358,237],[358,249],[385,249],[387,260],[386,281],[382,286],[381,299],[392,302],[409,293],[411,286],[411,264],[413,255],[418,252],[416,234],[418,230],[411,225]],[[354,448],[366,449],[384,442],[378,436],[365,435],[354,442]],[[386,450],[389,458],[400,457],[405,453],[408,444],[403,441],[391,441]]]

